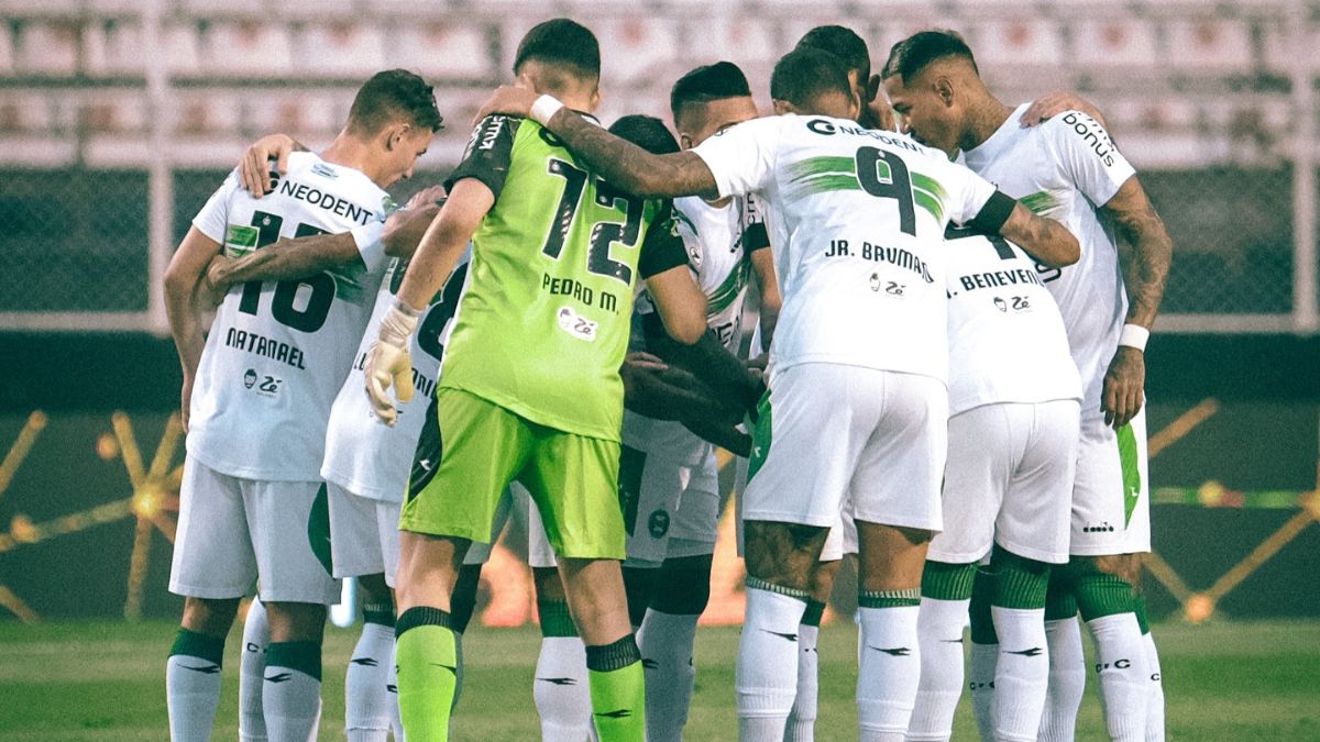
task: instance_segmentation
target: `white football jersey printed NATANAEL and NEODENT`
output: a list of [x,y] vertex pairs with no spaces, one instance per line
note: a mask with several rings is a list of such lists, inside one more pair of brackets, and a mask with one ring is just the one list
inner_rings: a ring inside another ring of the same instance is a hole
[[187,453],[244,479],[319,479],[330,404],[352,364],[385,268],[392,202],[363,173],[309,152],[289,156],[255,199],[230,174],[193,220],[231,256],[277,238],[354,231],[362,264],[232,287],[193,387]]

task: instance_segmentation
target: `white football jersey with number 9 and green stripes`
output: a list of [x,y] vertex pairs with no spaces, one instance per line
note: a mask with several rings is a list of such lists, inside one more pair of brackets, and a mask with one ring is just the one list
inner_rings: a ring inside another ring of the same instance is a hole
[[766,207],[783,309],[775,371],[828,362],[946,380],[944,227],[994,186],[909,137],[826,116],[771,116],[693,149],[721,195]]

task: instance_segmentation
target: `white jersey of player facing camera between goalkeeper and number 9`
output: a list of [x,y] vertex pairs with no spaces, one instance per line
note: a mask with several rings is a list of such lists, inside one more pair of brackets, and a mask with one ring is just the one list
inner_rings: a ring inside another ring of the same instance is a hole
[[[742,346],[743,304],[751,277],[751,252],[768,247],[766,226],[755,201],[748,195],[717,207],[696,195],[676,198],[673,215],[688,250],[688,267],[706,294],[706,323],[729,353],[738,355]],[[635,308],[638,318],[655,312],[655,305],[645,294]],[[635,321],[632,327],[634,338],[640,338],[640,321]],[[623,413],[623,442],[684,466],[701,463],[711,449],[710,444],[681,422],[652,420],[630,411]]]

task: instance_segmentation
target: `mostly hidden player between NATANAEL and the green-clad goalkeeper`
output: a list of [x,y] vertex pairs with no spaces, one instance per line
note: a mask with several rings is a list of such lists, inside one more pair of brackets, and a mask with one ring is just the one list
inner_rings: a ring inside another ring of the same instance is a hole
[[[292,139],[267,137],[253,148],[288,156],[305,151]],[[263,161],[265,157],[263,156]],[[375,421],[362,393],[362,363],[367,347],[375,341],[380,316],[393,302],[393,290],[403,277],[400,260],[407,264],[430,219],[438,211],[436,199],[444,198],[441,186],[418,191],[408,207],[389,217],[383,236],[388,255],[397,255],[387,271],[376,296],[372,318],[367,323],[358,363],[339,388],[330,409],[325,462],[321,474],[326,481],[326,506],[330,525],[330,555],[335,578],[356,577],[363,590],[363,630],[354,647],[345,683],[345,731],[350,742],[383,742],[391,726],[397,727],[397,702],[392,679],[393,654],[393,585],[399,562],[399,508],[408,482],[413,449],[421,433],[422,411],[403,416],[403,424],[381,425]],[[281,239],[239,259],[218,257],[207,269],[215,287],[248,281],[280,281],[342,268],[356,260],[358,246],[352,232]],[[424,330],[413,349],[414,382],[434,386],[440,367],[442,339],[462,288],[462,273],[434,297],[428,308]],[[428,395],[429,396],[429,395]],[[269,628],[260,601],[253,601],[243,627],[243,680],[240,683],[240,730],[246,737],[265,737],[261,720],[260,677]],[[253,685],[251,679],[257,679]]]

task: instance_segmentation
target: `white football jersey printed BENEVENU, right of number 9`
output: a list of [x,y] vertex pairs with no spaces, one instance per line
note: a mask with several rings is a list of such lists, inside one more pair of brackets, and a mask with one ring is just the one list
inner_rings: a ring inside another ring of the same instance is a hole
[[1081,399],[1055,298],[1018,246],[949,230],[949,415]]

